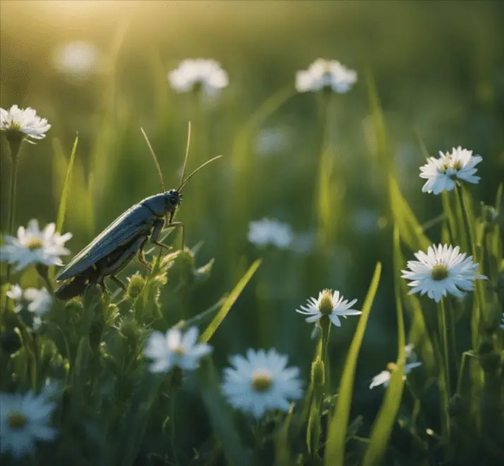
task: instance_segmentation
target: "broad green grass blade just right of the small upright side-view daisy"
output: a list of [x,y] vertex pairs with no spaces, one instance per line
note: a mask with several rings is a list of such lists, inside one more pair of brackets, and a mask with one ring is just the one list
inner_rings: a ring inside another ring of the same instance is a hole
[[344,444],[347,438],[347,424],[350,414],[350,405],[352,404],[352,390],[354,387],[354,375],[357,365],[357,357],[361,347],[364,331],[368,322],[371,305],[378,290],[380,283],[381,263],[376,264],[371,285],[369,285],[368,294],[364,299],[362,306],[361,317],[359,324],[355,330],[354,339],[350,345],[347,355],[347,361],[344,364],[343,376],[340,383],[340,393],[337,398],[335,412],[332,415],[328,429],[328,441],[325,446],[326,466],[343,466],[344,465]]

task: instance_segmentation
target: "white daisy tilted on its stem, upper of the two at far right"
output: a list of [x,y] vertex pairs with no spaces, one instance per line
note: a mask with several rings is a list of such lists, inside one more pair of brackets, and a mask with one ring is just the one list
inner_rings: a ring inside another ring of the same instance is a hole
[[476,184],[479,177],[474,174],[476,167],[483,158],[480,155],[472,155],[472,150],[453,148],[452,153],[439,153],[438,159],[429,157],[426,165],[420,167],[420,178],[427,179],[422,186],[423,193],[439,194],[442,191],[453,191],[459,180]]

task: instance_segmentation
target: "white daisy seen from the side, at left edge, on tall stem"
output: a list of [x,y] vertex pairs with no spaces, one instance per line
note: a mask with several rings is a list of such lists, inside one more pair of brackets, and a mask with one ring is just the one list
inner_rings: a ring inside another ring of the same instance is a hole
[[8,138],[42,139],[50,128],[47,119],[38,117],[30,107],[20,109],[13,105],[8,110],[0,108],[0,131],[6,131]]

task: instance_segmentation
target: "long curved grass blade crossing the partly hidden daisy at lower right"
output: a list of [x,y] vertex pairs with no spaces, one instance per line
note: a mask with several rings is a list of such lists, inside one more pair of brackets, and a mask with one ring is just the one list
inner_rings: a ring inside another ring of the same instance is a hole
[[371,441],[366,450],[366,454],[364,455],[364,462],[362,463],[363,466],[379,465],[380,461],[383,460],[383,456],[385,455],[388,445],[388,439],[390,438],[390,433],[392,432],[392,427],[394,426],[395,418],[397,417],[397,412],[399,411],[402,390],[404,388],[404,380],[402,376],[404,375],[404,360],[406,354],[404,352],[404,318],[402,313],[400,283],[400,236],[399,229],[397,229],[397,227],[394,227],[393,249],[395,270],[395,304],[397,309],[397,369],[392,374],[390,384],[385,392],[385,400],[380,407],[380,412],[378,413],[376,422],[373,424],[373,429],[371,430]]

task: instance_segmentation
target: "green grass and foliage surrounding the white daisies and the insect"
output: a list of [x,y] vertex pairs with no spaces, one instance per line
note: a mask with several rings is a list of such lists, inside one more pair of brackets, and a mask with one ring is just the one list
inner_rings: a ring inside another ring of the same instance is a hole
[[[2,465],[504,463],[498,2],[209,2],[201,13],[196,2],[96,4],[90,10],[98,15],[117,8],[119,23],[107,42],[100,21],[90,28],[82,14],[68,22],[102,52],[100,73],[80,82],[56,75],[47,60],[69,37],[59,27],[64,9],[42,18],[19,13],[31,4],[7,3],[2,107],[35,107],[52,124],[17,161],[16,228],[31,218],[41,227],[54,221],[56,231],[73,234],[65,245],[73,255],[159,192],[140,127],[157,148],[167,189],[179,183],[187,121],[188,171],[223,157],[184,189],[176,220],[186,225],[189,247],[178,249],[174,231],[162,237],[171,251],[148,243],[152,269],[132,261],[121,270],[126,292],[107,278],[109,292],[89,286],[83,296],[54,300],[35,330],[28,302],[6,292],[16,283],[50,289],[54,270],[44,277],[30,266],[6,282],[1,263],[0,391],[46,393],[58,431],[31,456],[2,454]],[[210,11],[218,21],[205,19]],[[49,17],[58,27],[47,28]],[[296,93],[294,73],[317,58],[314,50],[358,71],[350,92]],[[229,73],[215,100],[176,95],[167,85],[167,71],[195,51],[220,59]],[[268,149],[271,130],[281,136]],[[481,153],[481,181],[421,193],[419,166],[452,145]],[[6,148],[2,219],[11,203]],[[292,244],[251,244],[248,225],[260,217],[289,223]],[[488,280],[442,304],[409,294],[401,271],[414,253],[439,243],[474,256]],[[304,322],[294,310],[325,287],[359,303],[366,295],[361,316],[343,318],[341,328],[327,318],[314,328]],[[193,325],[212,354],[196,371],[151,374],[144,349],[152,332]],[[407,343],[422,366],[406,374]],[[222,369],[248,347],[287,354],[305,381],[304,397],[259,420],[232,410]],[[395,360],[388,387],[369,390],[388,360]]]

